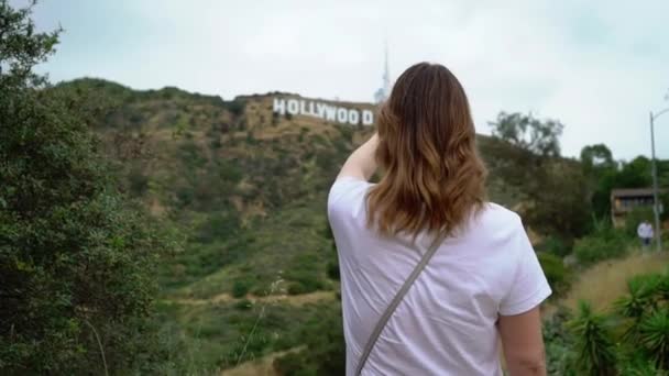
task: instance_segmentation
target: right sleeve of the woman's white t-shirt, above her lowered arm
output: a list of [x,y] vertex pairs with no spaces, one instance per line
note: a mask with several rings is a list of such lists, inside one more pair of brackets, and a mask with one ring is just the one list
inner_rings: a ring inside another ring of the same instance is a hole
[[552,292],[520,221],[509,245],[514,247],[517,265],[516,273],[512,276],[511,288],[500,302],[502,316],[525,313],[546,300]]

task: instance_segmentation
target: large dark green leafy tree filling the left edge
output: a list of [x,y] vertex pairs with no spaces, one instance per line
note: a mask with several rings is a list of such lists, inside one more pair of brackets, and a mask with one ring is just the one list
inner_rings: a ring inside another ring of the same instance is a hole
[[58,31],[35,33],[31,9],[0,0],[0,373],[139,369],[173,244],[118,193],[94,113],[32,71]]

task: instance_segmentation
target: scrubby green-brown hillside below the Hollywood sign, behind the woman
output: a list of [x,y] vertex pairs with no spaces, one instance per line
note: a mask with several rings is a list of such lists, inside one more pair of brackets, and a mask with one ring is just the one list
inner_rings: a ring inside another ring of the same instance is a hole
[[[308,322],[338,314],[336,294],[318,292],[338,289],[325,202],[346,157],[373,132],[362,119],[372,104],[283,92],[224,101],[98,79],[55,89],[113,108],[92,126],[123,189],[185,239],[161,266],[160,301],[166,335],[185,342],[198,372],[299,346]],[[307,114],[275,113],[275,98],[304,100]],[[322,108],[320,119],[312,101],[361,115],[341,124],[343,117]],[[491,199],[517,204],[522,190],[496,169],[497,153],[509,146],[485,136],[479,144]],[[320,298],[301,303],[259,298],[314,292]]]

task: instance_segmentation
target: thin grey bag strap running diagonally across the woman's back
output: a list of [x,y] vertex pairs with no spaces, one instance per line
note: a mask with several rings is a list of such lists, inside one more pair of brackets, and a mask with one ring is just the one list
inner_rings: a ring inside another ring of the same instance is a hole
[[376,341],[379,340],[379,335],[381,335],[381,332],[383,331],[386,323],[391,319],[391,316],[393,316],[393,313],[395,312],[395,309],[397,308],[397,306],[399,306],[399,302],[402,301],[402,299],[404,298],[406,292],[409,290],[409,288],[412,288],[416,278],[418,278],[418,275],[420,275],[420,272],[423,272],[425,269],[427,264],[430,262],[430,258],[432,258],[432,256],[437,252],[437,248],[439,247],[439,245],[441,245],[443,237],[445,237],[443,235],[439,235],[430,244],[430,247],[423,255],[423,258],[420,258],[420,262],[418,263],[418,265],[416,265],[416,267],[414,268],[412,274],[408,276],[408,278],[406,278],[406,280],[404,281],[404,285],[402,285],[402,287],[399,288],[397,294],[395,294],[395,297],[393,298],[393,300],[391,301],[388,307],[385,309],[385,312],[383,312],[383,314],[379,319],[379,322],[376,322],[376,325],[374,327],[374,330],[372,331],[372,334],[370,334],[370,339],[368,340],[368,343],[364,346],[362,356],[360,357],[360,361],[358,362],[358,368],[355,369],[354,375],[360,375],[362,373],[362,368],[364,367],[365,363],[368,362],[368,357],[370,357],[370,354],[372,353],[372,350],[374,349],[374,344],[376,344]]

